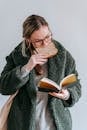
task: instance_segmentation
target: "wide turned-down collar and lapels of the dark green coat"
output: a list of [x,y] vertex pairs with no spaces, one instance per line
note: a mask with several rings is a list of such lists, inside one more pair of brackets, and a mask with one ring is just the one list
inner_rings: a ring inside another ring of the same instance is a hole
[[[53,42],[58,49],[58,54],[48,59],[48,78],[59,83],[64,76],[66,51],[59,42],[55,40],[53,40]],[[23,66],[28,62],[30,58],[30,52],[27,49],[24,41],[22,41],[15,49],[13,58],[16,65]]]

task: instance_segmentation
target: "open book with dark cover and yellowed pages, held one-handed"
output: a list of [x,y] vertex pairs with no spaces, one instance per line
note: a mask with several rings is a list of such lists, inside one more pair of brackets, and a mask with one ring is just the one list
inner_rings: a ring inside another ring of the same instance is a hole
[[48,78],[42,78],[38,83],[38,91],[42,92],[59,92],[61,89],[65,89],[70,85],[74,85],[77,82],[77,77],[75,74],[70,74],[64,77],[60,84],[58,85],[56,82],[52,81]]

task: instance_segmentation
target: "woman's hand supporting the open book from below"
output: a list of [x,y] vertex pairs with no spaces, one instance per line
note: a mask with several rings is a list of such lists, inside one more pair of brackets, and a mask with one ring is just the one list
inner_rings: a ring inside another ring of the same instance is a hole
[[62,89],[59,93],[49,92],[49,94],[62,100],[68,100],[70,97],[70,93],[67,89]]

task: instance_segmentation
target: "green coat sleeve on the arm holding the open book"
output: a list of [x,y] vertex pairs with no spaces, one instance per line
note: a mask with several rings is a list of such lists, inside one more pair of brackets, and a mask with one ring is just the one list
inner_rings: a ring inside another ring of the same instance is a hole
[[78,82],[68,88],[68,91],[70,92],[70,98],[67,101],[63,100],[65,107],[73,106],[81,97],[81,85],[80,80],[78,79],[78,72],[76,71],[75,60],[69,52],[66,52],[65,76],[72,73],[76,74]]

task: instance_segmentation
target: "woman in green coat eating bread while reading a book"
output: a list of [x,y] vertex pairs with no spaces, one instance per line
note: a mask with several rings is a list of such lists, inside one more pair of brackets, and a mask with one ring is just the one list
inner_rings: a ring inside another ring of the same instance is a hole
[[[49,25],[41,16],[31,15],[24,21],[23,37],[24,40],[6,57],[0,77],[2,94],[19,90],[8,116],[8,130],[71,130],[68,107],[81,96],[79,80],[60,93],[39,92],[37,84],[42,77],[59,84],[69,74],[78,76],[74,59],[52,38]],[[55,56],[47,58],[46,54],[37,51],[50,44],[58,50]]]

